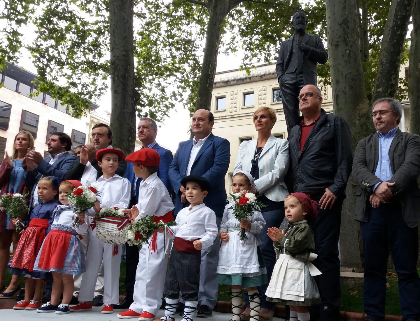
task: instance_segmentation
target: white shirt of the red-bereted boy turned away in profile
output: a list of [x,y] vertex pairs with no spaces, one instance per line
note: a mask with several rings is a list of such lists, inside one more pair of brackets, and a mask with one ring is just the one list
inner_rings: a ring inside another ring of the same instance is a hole
[[140,182],[139,203],[136,207],[140,212],[136,220],[150,215],[163,216],[173,210],[174,206],[168,189],[157,177],[157,173],[153,173]]

